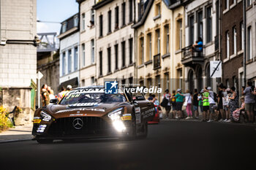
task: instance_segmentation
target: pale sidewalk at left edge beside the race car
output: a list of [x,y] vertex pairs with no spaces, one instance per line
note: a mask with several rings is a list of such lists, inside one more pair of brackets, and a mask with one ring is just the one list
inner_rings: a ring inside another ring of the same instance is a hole
[[0,144],[5,142],[17,142],[31,140],[33,125],[20,125],[15,128],[9,128],[7,131],[0,133]]

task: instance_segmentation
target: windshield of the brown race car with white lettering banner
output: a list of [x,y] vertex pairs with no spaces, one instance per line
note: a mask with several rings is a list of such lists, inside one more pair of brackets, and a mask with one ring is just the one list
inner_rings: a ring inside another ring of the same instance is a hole
[[122,94],[105,93],[68,93],[59,104],[77,104],[75,106],[94,106],[99,103],[126,101]]

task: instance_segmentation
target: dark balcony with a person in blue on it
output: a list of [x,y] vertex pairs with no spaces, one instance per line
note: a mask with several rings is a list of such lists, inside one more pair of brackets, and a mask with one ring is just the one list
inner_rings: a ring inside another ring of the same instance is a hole
[[[199,46],[197,46],[196,49],[198,47]],[[192,50],[192,45],[184,47],[182,49],[181,63],[184,64],[184,66],[190,67],[195,66],[195,64],[203,63],[203,50],[201,52],[199,52],[199,50]]]

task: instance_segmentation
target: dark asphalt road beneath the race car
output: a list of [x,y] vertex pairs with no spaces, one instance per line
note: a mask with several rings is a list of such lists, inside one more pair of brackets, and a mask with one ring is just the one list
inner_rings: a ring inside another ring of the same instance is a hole
[[256,169],[256,127],[162,121],[133,141],[4,143],[0,169]]

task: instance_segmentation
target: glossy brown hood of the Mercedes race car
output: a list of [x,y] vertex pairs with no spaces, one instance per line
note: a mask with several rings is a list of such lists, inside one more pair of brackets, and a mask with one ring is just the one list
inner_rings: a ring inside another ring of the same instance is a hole
[[61,117],[102,117],[108,112],[114,109],[124,107],[127,105],[124,102],[121,103],[108,103],[108,104],[98,104],[94,107],[69,107],[68,105],[54,104],[48,106],[48,112],[55,118]]

